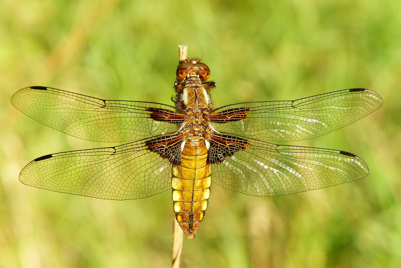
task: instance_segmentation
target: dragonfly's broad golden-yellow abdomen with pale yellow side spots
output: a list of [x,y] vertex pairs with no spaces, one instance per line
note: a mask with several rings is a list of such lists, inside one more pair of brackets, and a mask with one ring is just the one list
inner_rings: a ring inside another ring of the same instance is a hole
[[181,165],[173,165],[173,207],[187,238],[199,228],[210,196],[211,169],[205,140],[188,139],[181,152]]

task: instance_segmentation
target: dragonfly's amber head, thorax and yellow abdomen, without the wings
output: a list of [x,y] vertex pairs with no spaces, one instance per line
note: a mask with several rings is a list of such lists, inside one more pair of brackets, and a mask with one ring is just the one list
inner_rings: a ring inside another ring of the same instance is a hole
[[[178,66],[176,106],[185,110],[182,135],[181,163],[172,169],[173,206],[176,219],[187,238],[195,235],[207,208],[210,196],[211,167],[208,160],[211,100],[203,83],[209,78],[209,68],[199,59],[188,59]],[[210,144],[209,144],[210,145]]]

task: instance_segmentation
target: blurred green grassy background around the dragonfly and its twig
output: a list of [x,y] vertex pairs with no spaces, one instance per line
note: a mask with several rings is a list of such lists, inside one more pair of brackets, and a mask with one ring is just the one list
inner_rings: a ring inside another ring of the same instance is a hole
[[212,185],[182,267],[399,267],[401,2],[85,0],[0,2],[0,267],[170,267],[170,191],[110,201],[22,185],[30,160],[111,146],[72,138],[10,103],[43,85],[172,104],[178,47],[203,57],[215,106],[364,87],[383,106],[296,142],[352,152],[359,181],[280,197]]

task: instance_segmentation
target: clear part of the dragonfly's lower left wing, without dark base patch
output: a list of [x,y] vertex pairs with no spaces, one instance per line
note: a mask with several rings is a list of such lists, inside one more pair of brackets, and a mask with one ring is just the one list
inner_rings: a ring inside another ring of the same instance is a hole
[[26,185],[103,199],[138,199],[171,189],[171,164],[144,141],[36,158],[19,177]]

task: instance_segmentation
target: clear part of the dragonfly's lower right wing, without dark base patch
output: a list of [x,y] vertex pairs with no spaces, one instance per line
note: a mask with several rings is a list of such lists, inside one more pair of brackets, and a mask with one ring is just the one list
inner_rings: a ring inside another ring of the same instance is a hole
[[276,145],[259,140],[212,165],[213,181],[246,195],[289,195],[368,175],[358,156],[337,150]]

